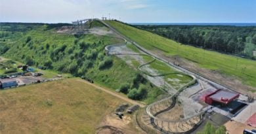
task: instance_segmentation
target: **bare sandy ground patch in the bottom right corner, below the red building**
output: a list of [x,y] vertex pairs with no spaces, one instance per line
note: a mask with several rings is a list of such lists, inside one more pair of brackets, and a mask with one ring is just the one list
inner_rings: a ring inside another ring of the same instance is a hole
[[224,126],[226,127],[226,130],[228,133],[230,134],[240,134],[243,133],[244,129],[255,129],[253,127],[247,126],[245,124],[242,124],[240,122],[226,122],[226,124],[224,124]]

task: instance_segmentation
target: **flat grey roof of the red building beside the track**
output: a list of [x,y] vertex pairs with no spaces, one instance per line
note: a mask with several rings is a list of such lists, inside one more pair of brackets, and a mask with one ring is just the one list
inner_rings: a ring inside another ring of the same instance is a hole
[[213,95],[209,96],[209,98],[213,99],[214,101],[219,101],[226,104],[236,99],[237,97],[239,97],[238,93],[227,92],[224,90],[220,90],[219,92],[216,92]]

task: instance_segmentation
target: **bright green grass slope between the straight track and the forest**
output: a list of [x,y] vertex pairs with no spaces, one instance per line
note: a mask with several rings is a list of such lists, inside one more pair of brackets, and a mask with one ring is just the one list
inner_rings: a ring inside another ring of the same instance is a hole
[[219,71],[242,80],[244,84],[256,87],[256,61],[179,44],[170,39],[119,22],[106,21],[106,23],[148,50],[158,49],[165,52],[167,56],[181,56],[194,61],[198,67]]

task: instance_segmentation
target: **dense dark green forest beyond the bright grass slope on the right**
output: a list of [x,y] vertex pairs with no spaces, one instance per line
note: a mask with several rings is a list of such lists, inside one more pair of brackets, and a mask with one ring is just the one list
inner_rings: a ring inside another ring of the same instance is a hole
[[226,25],[135,25],[182,44],[250,59],[256,50],[256,27]]

